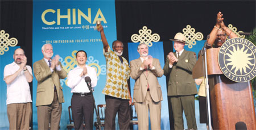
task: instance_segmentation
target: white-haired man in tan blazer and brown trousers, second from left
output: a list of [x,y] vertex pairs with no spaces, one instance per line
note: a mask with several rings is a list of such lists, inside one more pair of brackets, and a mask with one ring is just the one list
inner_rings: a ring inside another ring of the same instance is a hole
[[34,75],[38,81],[36,91],[36,107],[38,107],[38,129],[59,129],[62,111],[63,87],[60,78],[67,77],[67,72],[62,68],[59,55],[53,56],[51,44],[42,47],[44,58],[34,63]]

